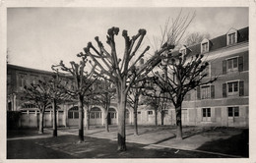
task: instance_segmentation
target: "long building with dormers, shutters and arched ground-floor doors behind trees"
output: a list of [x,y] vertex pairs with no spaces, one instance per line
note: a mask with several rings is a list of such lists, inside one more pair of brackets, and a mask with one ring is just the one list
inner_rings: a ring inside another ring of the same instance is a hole
[[[249,117],[249,66],[248,66],[248,27],[230,28],[224,35],[204,39],[189,47],[183,46],[176,52],[183,55],[203,54],[210,65],[208,76],[218,80],[198,87],[186,94],[182,104],[182,124],[192,126],[248,127]],[[21,111],[20,126],[37,127],[38,110],[23,97],[25,84],[46,80],[51,72],[23,68],[14,65],[7,67],[7,110]],[[70,80],[68,77],[63,80]],[[58,106],[58,125],[76,126],[78,107],[75,103]],[[164,125],[175,125],[175,110],[170,107],[164,112]],[[105,113],[101,106],[93,106],[90,113],[91,125],[103,125]],[[112,103],[109,109],[109,124],[117,124],[117,108]],[[133,110],[127,107],[126,122],[133,123]],[[139,124],[155,124],[155,109],[140,106],[137,112]],[[85,115],[86,117],[86,115]],[[160,124],[160,114],[159,114]],[[45,126],[52,125],[51,108],[46,109]],[[86,124],[86,121],[85,121]]]

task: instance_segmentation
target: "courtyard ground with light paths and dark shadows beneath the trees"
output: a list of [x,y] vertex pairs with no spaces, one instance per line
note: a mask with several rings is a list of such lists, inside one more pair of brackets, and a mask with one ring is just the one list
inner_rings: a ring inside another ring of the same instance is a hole
[[[175,139],[175,127],[126,129],[127,151],[117,152],[116,127],[110,132],[92,127],[85,142],[77,143],[77,128],[61,128],[58,137],[51,129],[8,131],[7,158],[232,158],[248,157],[248,130],[237,128],[184,127],[183,140]],[[26,150],[25,150],[26,149]]]

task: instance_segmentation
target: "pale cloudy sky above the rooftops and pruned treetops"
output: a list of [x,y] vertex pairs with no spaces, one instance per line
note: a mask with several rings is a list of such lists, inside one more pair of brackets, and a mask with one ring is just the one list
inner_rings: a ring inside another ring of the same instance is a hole
[[[9,63],[50,71],[51,65],[77,61],[89,41],[96,45],[95,36],[105,43],[109,27],[119,27],[135,35],[138,29],[147,29],[142,49],[151,46],[153,35],[160,36],[168,18],[175,19],[181,8],[8,8],[7,48]],[[248,8],[182,8],[182,15],[196,13],[187,33],[208,32],[216,37],[230,27],[248,27]],[[124,39],[116,37],[117,53],[122,55]],[[105,43],[105,46],[106,43]]]

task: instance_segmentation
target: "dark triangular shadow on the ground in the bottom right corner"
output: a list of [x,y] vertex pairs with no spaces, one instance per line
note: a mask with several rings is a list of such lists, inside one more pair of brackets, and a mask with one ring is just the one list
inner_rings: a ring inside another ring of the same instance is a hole
[[249,157],[249,130],[243,130],[241,134],[227,139],[208,141],[197,149]]

